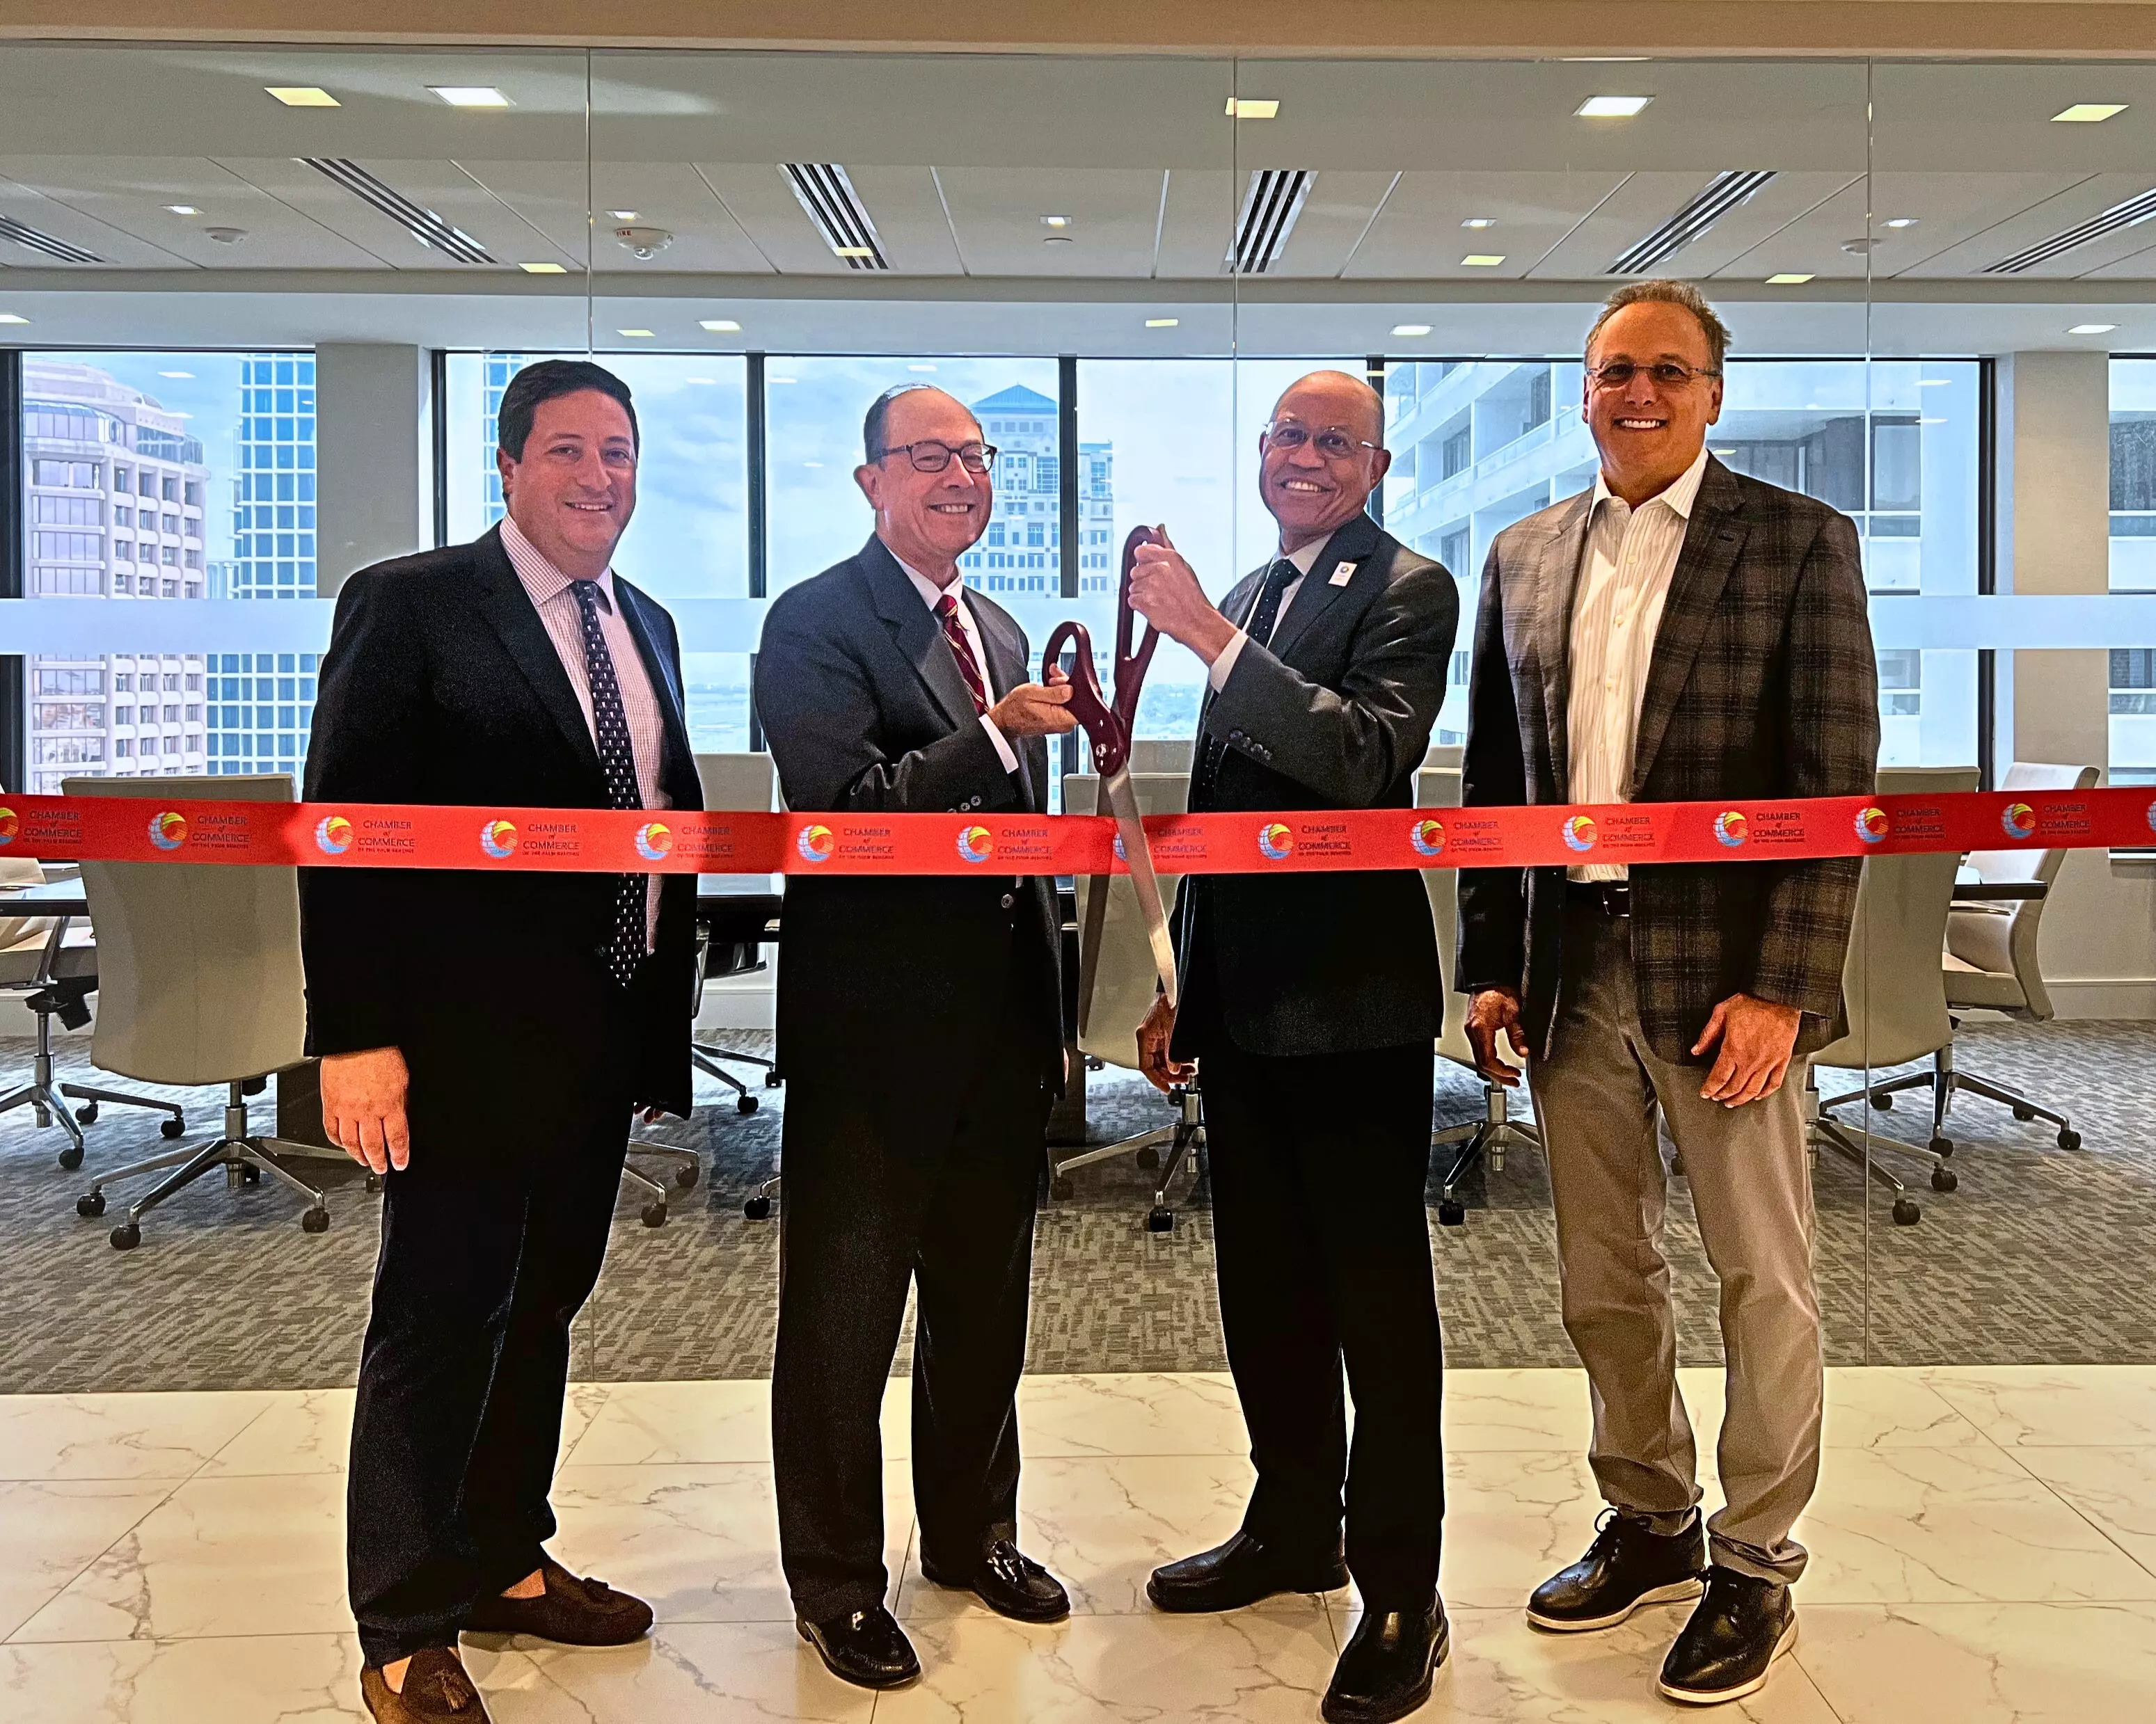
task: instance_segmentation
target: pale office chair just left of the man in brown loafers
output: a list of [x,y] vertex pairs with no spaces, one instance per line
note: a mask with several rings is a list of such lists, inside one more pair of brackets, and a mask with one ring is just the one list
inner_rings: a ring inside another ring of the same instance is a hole
[[[67,795],[140,802],[291,802],[291,778],[69,778]],[[142,1243],[142,1218],[211,1168],[229,1190],[263,1174],[306,1198],[300,1224],[330,1226],[323,1194],[278,1157],[345,1162],[323,1144],[248,1129],[248,1095],[306,1058],[300,965],[300,871],[183,862],[84,862],[97,931],[97,1028],[91,1060],[144,1084],[224,1084],[224,1131],[91,1181],[75,1213],[106,1213],[106,1185],[170,1172],[112,1228],[114,1250]]]

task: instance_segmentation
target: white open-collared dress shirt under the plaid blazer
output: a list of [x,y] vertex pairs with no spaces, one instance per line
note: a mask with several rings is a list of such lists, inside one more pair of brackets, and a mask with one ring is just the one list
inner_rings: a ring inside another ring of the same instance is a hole
[[[1567,802],[1630,802],[1632,746],[1647,698],[1654,638],[1677,573],[1708,450],[1639,509],[1595,476],[1587,550],[1572,599],[1572,685],[1565,700]],[[1623,862],[1587,862],[1570,879],[1623,879]]]

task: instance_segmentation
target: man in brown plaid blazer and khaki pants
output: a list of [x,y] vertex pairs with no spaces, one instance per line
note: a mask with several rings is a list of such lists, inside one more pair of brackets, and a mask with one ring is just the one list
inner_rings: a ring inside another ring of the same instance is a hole
[[[1468,804],[1869,795],[1878,677],[1856,528],[1708,455],[1729,334],[1686,282],[1634,282],[1587,336],[1591,491],[1483,565]],[[1460,877],[1460,987],[1483,1071],[1526,1056],[1550,1155],[1565,1330],[1593,1386],[1611,1513],[1529,1621],[1615,1627],[1705,1597],[1660,1690],[1736,1700],[1796,1640],[1789,1528],[1820,1472],[1820,1304],[1800,1110],[1828,1041],[1854,858]],[[1677,1394],[1656,1110],[1723,1282],[1727,1506],[1699,1526]],[[1712,1549],[1712,1567],[1710,1567]]]

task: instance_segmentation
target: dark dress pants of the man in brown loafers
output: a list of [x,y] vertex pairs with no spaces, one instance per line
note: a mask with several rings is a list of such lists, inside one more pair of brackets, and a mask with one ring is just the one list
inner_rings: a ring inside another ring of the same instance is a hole
[[412,1166],[384,1179],[347,1485],[373,1666],[455,1644],[472,1603],[554,1537],[569,1323],[606,1259],[627,1088],[563,1097],[558,1121],[550,1142],[474,1155],[414,1116]]

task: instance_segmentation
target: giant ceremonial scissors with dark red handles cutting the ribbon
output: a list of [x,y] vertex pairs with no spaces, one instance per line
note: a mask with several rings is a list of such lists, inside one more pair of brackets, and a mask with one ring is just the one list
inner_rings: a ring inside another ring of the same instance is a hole
[[[1153,853],[1145,847],[1145,823],[1138,819],[1138,793],[1130,782],[1130,726],[1138,715],[1138,690],[1145,687],[1145,668],[1153,662],[1160,644],[1160,629],[1145,625],[1145,640],[1130,649],[1134,616],[1130,610],[1130,571],[1138,560],[1138,545],[1162,545],[1164,534],[1149,526],[1134,526],[1123,541],[1123,580],[1115,601],[1115,662],[1110,683],[1115,694],[1102,694],[1100,672],[1093,668],[1093,636],[1084,623],[1059,623],[1048,644],[1041,649],[1041,664],[1061,664],[1065,646],[1076,644],[1072,664],[1072,713],[1084,726],[1093,743],[1093,769],[1100,774],[1100,800],[1095,812],[1115,817],[1115,836],[1130,864],[1130,884],[1138,892],[1138,912],[1145,916],[1145,937],[1153,948],[1153,970],[1160,972],[1160,987],[1175,1004],[1175,942],[1169,940],[1169,912],[1160,899],[1160,875],[1153,873]],[[1108,920],[1108,881],[1102,879],[1087,894],[1084,924],[1078,931],[1078,1032],[1084,1034],[1093,1006],[1093,976],[1100,968],[1100,940]]]

